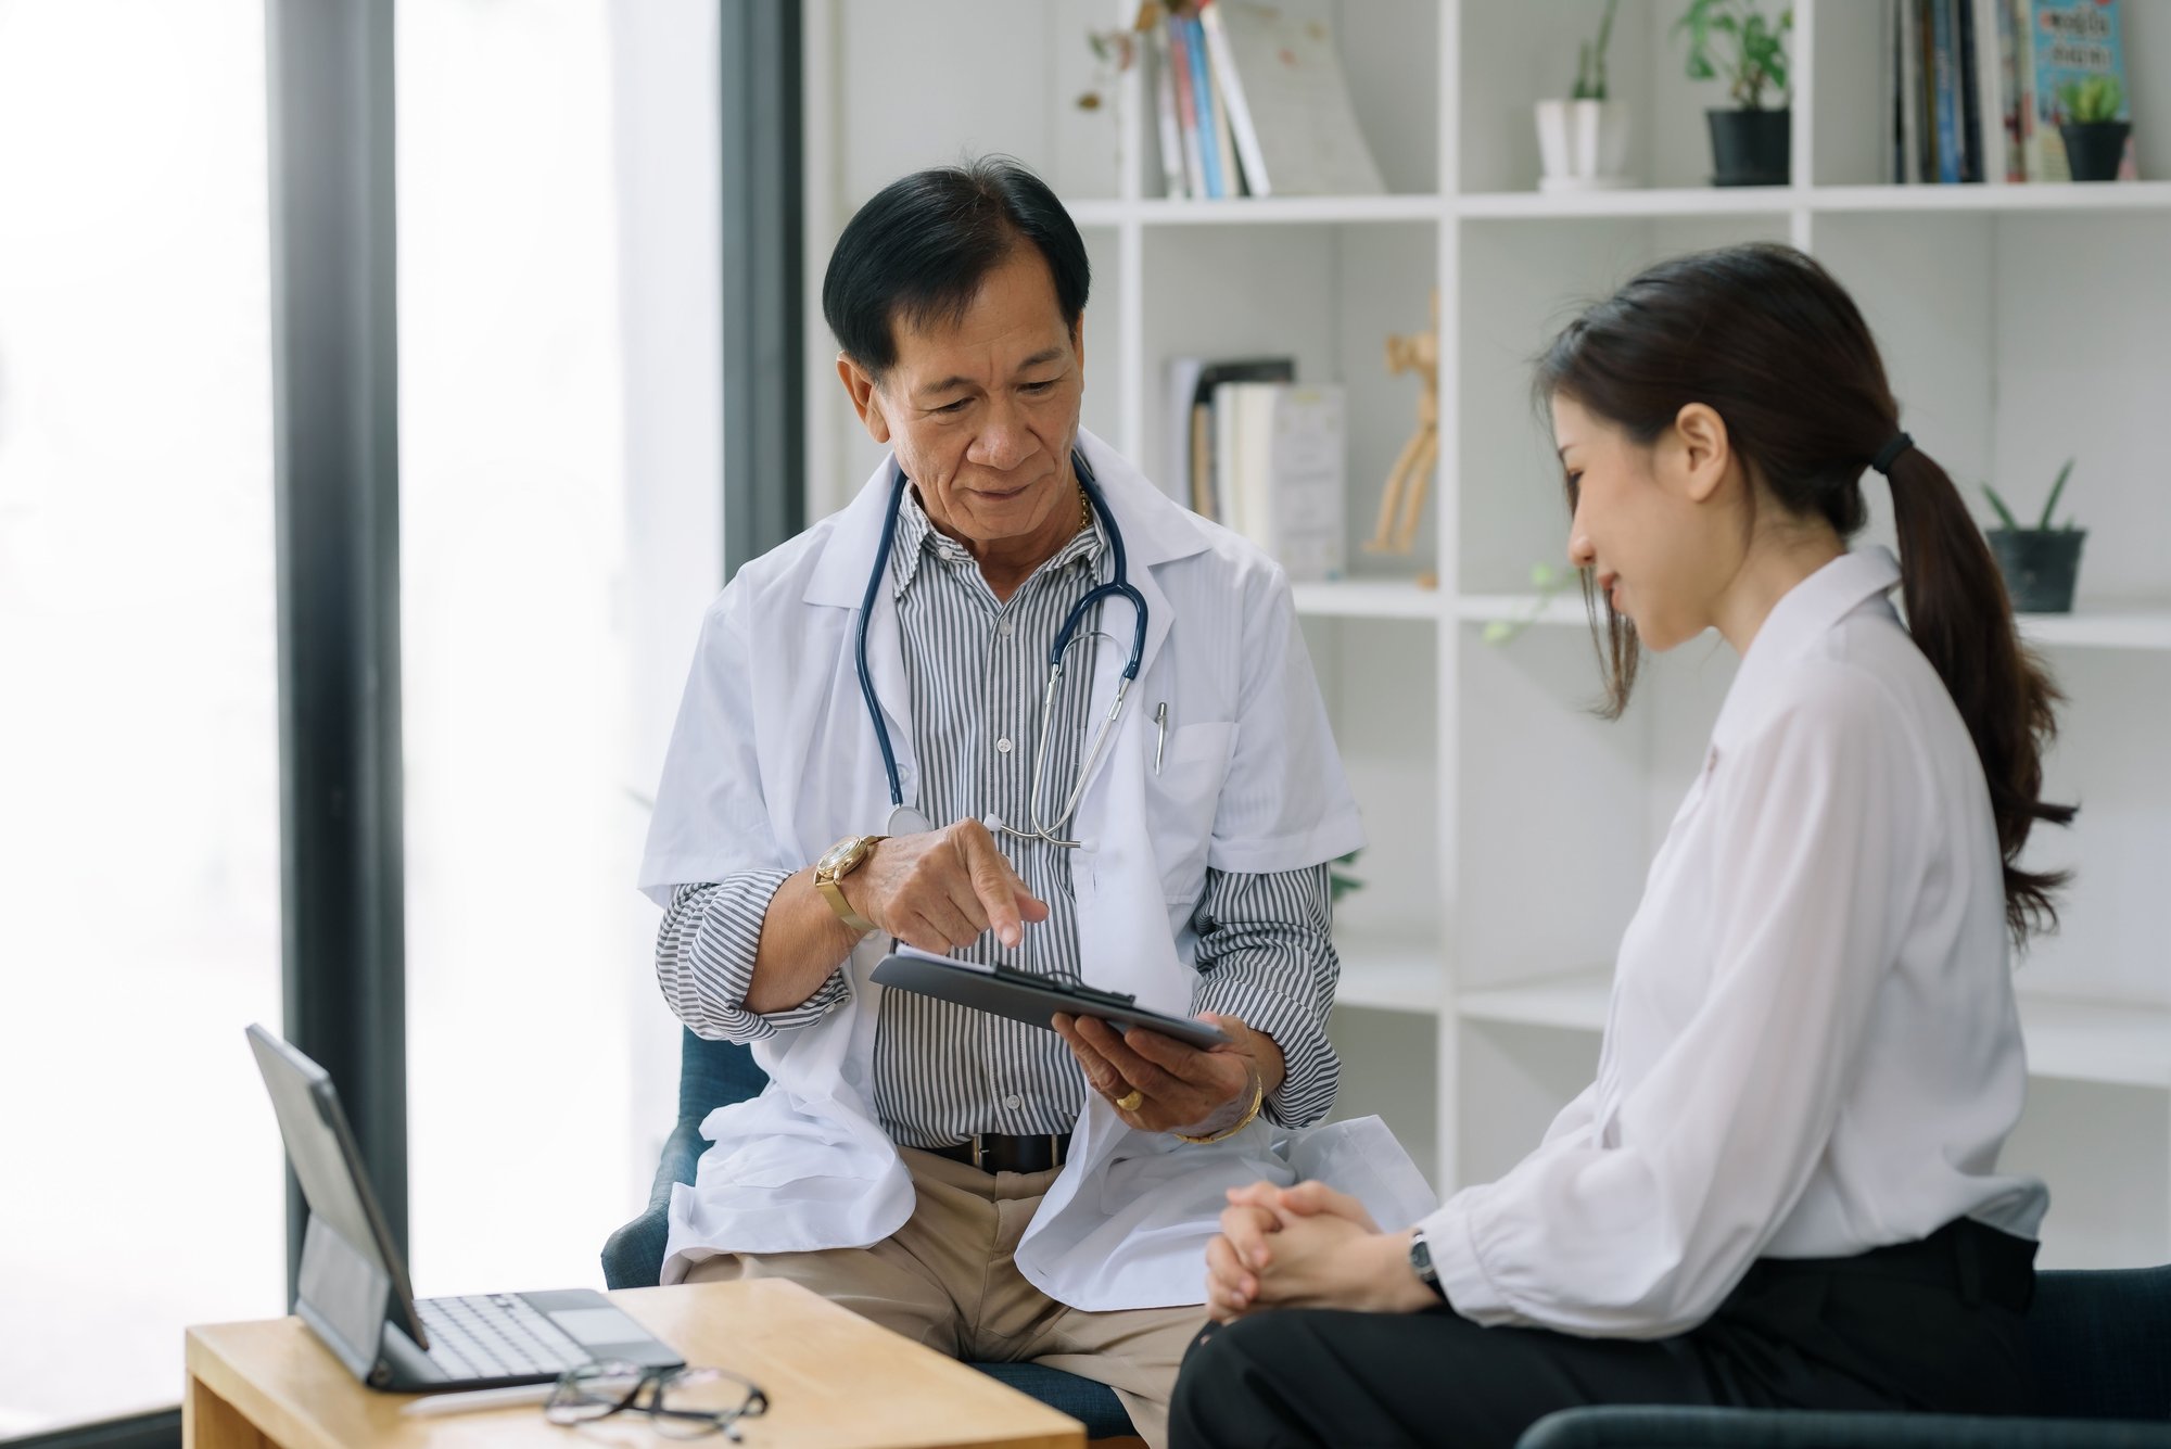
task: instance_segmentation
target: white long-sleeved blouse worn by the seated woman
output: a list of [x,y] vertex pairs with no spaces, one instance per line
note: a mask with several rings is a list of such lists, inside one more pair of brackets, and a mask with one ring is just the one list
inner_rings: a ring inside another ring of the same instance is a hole
[[1659,1338],[1759,1256],[2036,1234],[2047,1191],[1997,1171],[2028,1063],[1989,787],[1897,581],[1848,553],[1752,640],[1622,937],[1598,1080],[1422,1223],[1463,1317]]

